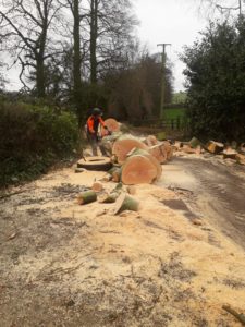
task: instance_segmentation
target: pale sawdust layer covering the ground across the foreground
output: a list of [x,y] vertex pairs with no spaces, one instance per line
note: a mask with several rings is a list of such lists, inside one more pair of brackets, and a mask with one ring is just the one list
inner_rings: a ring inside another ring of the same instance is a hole
[[66,168],[1,199],[0,325],[241,326],[222,305],[245,311],[242,247],[162,186],[136,186],[138,213],[78,206],[102,175]]

